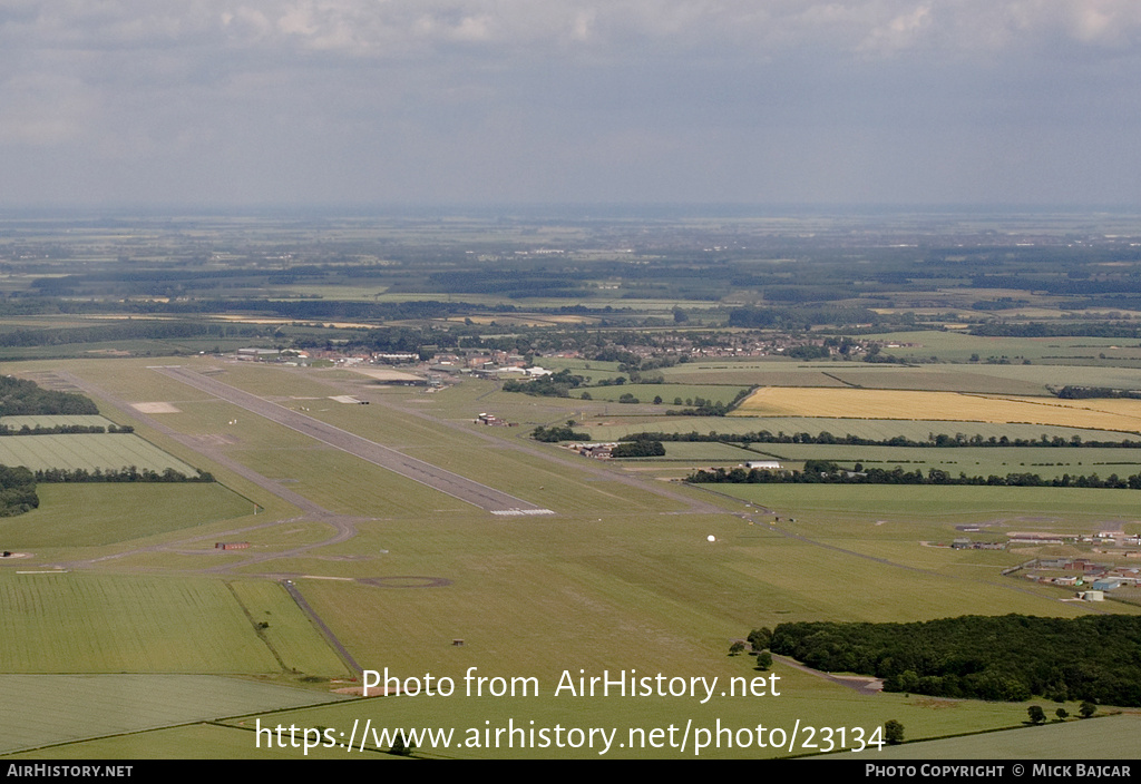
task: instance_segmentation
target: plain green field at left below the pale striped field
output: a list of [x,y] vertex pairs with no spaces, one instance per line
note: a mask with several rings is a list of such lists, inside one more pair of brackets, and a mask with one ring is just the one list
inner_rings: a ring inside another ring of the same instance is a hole
[[236,520],[251,511],[249,501],[217,483],[40,483],[37,493],[38,509],[0,520],[0,547],[110,545]]

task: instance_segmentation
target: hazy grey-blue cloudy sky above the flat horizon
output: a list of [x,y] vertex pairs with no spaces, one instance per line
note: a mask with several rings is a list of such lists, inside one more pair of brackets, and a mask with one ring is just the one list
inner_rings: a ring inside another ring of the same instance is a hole
[[1141,205],[1138,0],[0,0],[0,207]]

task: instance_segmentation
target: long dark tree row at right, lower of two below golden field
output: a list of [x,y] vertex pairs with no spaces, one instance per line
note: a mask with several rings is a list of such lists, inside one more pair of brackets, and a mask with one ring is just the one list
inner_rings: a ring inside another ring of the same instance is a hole
[[930,468],[926,474],[921,469],[904,471],[895,468],[864,468],[857,464],[855,471],[847,471],[831,460],[806,460],[803,471],[770,471],[768,468],[736,467],[728,471],[721,467],[712,471],[697,471],[686,477],[694,483],[729,483],[729,484],[966,484],[993,485],[1008,488],[1099,488],[1114,490],[1141,490],[1141,474],[1132,474],[1122,479],[1110,474],[1101,479],[1098,474],[1075,475],[1062,474],[1053,479],[1043,479],[1038,474],[1010,473],[1005,476],[968,476],[960,472],[953,476],[941,468]]

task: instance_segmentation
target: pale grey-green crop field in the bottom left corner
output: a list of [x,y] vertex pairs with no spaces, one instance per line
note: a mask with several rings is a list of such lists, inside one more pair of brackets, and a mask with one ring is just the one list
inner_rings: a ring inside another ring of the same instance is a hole
[[[59,752],[67,756],[68,751],[84,748],[82,743],[63,748],[54,745],[79,738],[122,733],[131,733],[129,737],[138,738],[135,733],[156,727],[340,699],[276,684],[173,673],[0,675],[0,692],[5,701],[5,711],[0,713],[0,753],[50,745],[52,757]],[[105,742],[124,741],[108,738]],[[187,750],[184,741],[181,754]],[[138,746],[137,753],[124,753],[118,758],[155,756],[161,754]],[[216,759],[220,757],[217,751],[211,756]]]

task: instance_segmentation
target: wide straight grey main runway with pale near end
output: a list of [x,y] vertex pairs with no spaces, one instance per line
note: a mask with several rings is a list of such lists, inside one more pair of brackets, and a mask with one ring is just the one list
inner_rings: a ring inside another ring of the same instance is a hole
[[156,373],[169,376],[196,390],[201,390],[216,398],[233,403],[240,408],[265,417],[270,422],[276,422],[290,430],[294,430],[302,435],[308,435],[322,443],[341,449],[350,455],[355,455],[373,465],[386,468],[405,476],[421,484],[447,493],[453,498],[459,498],[472,506],[478,506],[492,514],[526,515],[526,514],[553,514],[550,509],[544,509],[536,504],[525,501],[515,496],[509,496],[486,484],[480,484],[459,474],[453,474],[430,463],[418,460],[402,452],[383,447],[374,441],[362,438],[348,431],[321,422],[304,414],[269,402],[249,392],[224,384],[216,378],[203,376],[178,366],[154,367]]

